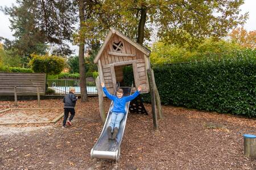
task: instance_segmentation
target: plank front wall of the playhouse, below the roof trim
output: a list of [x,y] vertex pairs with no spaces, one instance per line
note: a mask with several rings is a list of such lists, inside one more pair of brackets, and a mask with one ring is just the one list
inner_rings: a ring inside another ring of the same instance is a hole
[[[123,43],[123,48],[121,51],[115,51],[113,49],[113,42],[119,42],[121,41]],[[108,52],[115,52],[115,53],[125,53],[125,54],[134,54],[135,57],[128,57],[128,56],[114,56],[110,55]],[[123,73],[122,73],[122,67],[123,66],[115,66],[114,67],[114,73],[113,73],[113,66],[114,63],[120,63],[123,61],[134,61],[133,64],[133,71],[135,73],[135,77],[137,79],[136,86],[139,85],[143,88],[143,93],[148,92],[148,81],[146,76],[146,65],[144,61],[144,54],[135,48],[133,45],[131,45],[126,40],[122,39],[121,37],[114,35],[112,39],[109,41],[109,44],[106,46],[106,49],[102,53],[102,56],[100,58],[100,63],[102,66],[102,72],[104,76],[105,86],[108,88],[108,91],[110,94],[114,93],[115,88],[115,82],[121,81],[123,79]],[[114,78],[113,78],[114,76]]]

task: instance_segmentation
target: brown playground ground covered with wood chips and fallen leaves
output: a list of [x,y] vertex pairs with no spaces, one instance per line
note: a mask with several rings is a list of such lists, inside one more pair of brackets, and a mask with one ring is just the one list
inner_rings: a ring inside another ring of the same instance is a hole
[[[37,101],[18,101],[18,108],[36,108]],[[42,108],[63,105],[60,99],[42,100]],[[105,110],[110,105],[104,99]],[[159,131],[148,115],[128,114],[119,162],[91,159],[90,150],[103,128],[98,97],[76,106],[73,125],[1,125],[1,169],[254,169],[243,155],[243,134],[255,133],[255,119],[162,106]],[[0,110],[16,108],[1,101]],[[22,119],[22,117],[20,117]]]

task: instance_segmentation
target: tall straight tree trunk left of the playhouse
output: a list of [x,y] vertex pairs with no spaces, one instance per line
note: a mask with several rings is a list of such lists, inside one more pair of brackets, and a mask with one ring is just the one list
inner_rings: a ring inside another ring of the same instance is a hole
[[[82,28],[82,23],[84,22],[84,0],[79,0],[79,19],[80,19],[80,29]],[[81,101],[88,101],[87,90],[86,90],[86,77],[85,77],[85,61],[84,61],[84,36],[80,35],[79,42],[79,73],[80,73],[80,91],[81,91]]]

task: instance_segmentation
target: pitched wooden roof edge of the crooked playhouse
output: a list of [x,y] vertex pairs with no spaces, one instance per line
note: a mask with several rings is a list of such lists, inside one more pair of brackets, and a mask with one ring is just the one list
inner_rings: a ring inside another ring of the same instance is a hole
[[122,37],[122,39],[126,40],[127,42],[129,42],[131,45],[133,45],[135,48],[137,48],[138,50],[140,50],[142,53],[146,54],[146,56],[148,57],[150,55],[150,50],[147,49],[146,47],[142,46],[141,44],[138,44],[137,42],[131,40],[129,37],[123,35],[123,33],[117,31],[114,28],[110,28],[110,31],[108,33],[108,35],[106,36],[105,41],[103,42],[100,50],[98,51],[97,56],[94,59],[94,63],[97,63],[98,60],[101,57],[101,54],[104,52],[105,47],[108,45],[108,42],[111,40],[111,38],[117,35],[119,37]]

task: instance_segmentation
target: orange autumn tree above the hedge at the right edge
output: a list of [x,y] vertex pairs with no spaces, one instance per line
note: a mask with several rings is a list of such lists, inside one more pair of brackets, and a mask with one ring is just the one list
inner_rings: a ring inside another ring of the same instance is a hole
[[256,30],[247,32],[243,27],[234,28],[229,34],[231,41],[244,48],[256,48]]

